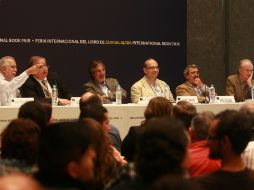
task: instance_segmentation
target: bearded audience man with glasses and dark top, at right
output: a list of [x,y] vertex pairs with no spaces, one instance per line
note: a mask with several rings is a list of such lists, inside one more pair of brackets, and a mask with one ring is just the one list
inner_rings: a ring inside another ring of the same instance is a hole
[[254,171],[246,168],[241,157],[251,139],[252,122],[249,115],[225,110],[215,116],[209,129],[210,158],[221,159],[221,169],[196,181],[206,190],[242,189],[254,187]]

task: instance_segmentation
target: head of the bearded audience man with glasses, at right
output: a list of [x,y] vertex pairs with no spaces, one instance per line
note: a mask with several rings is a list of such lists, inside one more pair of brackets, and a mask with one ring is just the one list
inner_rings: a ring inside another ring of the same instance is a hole
[[251,139],[251,123],[250,115],[243,112],[225,110],[217,114],[208,132],[210,158],[241,156]]

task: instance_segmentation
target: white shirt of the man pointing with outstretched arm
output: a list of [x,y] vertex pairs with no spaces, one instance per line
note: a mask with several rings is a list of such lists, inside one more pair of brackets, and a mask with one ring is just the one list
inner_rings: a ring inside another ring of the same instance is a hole
[[10,98],[16,98],[19,93],[18,88],[21,87],[27,79],[28,74],[25,71],[14,77],[11,81],[5,80],[2,73],[0,73],[0,105],[6,106],[9,104]]

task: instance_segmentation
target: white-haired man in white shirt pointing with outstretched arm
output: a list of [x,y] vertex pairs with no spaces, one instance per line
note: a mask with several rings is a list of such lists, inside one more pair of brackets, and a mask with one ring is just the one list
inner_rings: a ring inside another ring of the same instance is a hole
[[0,105],[6,106],[11,98],[20,97],[18,88],[24,84],[30,74],[36,74],[40,65],[32,66],[16,76],[17,64],[13,57],[5,56],[0,59]]

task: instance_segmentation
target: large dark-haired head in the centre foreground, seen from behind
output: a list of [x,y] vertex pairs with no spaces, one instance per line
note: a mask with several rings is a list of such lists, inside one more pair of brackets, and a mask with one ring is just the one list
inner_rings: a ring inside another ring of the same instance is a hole
[[138,144],[138,175],[151,182],[166,174],[183,174],[188,145],[183,123],[160,117],[149,120],[146,125]]

